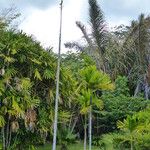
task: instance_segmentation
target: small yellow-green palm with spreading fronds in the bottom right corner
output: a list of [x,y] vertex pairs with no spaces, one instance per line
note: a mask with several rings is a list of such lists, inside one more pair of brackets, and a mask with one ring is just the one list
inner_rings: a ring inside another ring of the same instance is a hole
[[131,150],[150,132],[149,113],[150,110],[148,108],[133,116],[128,116],[124,121],[117,122],[118,128],[123,132],[121,142],[124,144],[124,142],[129,141]]

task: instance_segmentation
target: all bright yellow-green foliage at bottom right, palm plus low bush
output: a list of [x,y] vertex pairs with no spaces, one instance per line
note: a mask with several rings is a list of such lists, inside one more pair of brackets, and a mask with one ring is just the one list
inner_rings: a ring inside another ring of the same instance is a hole
[[[135,113],[133,116],[128,116],[124,121],[118,121],[118,128],[121,130],[118,133],[103,135],[100,140],[101,146],[105,149],[131,148],[137,150],[147,150],[150,147],[150,113],[149,108]],[[147,117],[146,117],[147,116]]]

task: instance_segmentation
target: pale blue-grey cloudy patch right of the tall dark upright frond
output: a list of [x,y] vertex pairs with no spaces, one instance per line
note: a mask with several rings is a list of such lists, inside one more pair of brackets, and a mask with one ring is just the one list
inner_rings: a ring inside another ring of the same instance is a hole
[[129,25],[141,13],[149,14],[150,0],[98,0],[110,26]]

